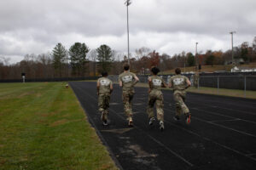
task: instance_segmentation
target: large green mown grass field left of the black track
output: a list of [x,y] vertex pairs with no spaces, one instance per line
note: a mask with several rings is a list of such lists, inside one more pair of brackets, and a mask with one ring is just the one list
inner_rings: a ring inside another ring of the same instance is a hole
[[0,169],[117,169],[64,85],[0,84]]

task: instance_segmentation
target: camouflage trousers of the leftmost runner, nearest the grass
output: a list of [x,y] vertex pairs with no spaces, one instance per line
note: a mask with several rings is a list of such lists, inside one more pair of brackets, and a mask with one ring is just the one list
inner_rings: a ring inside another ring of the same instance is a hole
[[109,108],[110,94],[99,94],[98,107],[99,111],[103,114],[105,120],[108,119],[108,108]]

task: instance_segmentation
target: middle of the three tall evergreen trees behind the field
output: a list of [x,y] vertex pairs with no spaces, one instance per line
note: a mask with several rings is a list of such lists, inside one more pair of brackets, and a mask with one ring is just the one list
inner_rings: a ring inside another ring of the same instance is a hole
[[86,70],[86,55],[89,52],[89,48],[80,42],[75,42],[73,46],[69,48],[71,66],[73,70],[73,74],[77,76],[84,76]]

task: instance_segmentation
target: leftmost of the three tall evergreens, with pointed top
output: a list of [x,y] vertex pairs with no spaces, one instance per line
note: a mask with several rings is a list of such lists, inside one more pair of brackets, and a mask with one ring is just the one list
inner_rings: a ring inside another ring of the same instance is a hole
[[65,61],[67,61],[67,50],[61,42],[59,42],[53,49],[52,58],[55,71],[57,71],[61,77],[63,65],[65,64]]

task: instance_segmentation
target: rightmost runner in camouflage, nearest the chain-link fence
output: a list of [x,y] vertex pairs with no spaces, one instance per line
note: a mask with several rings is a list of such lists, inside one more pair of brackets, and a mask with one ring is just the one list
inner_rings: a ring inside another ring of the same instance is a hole
[[191,114],[189,113],[189,108],[184,104],[186,99],[186,88],[191,86],[191,82],[188,77],[184,77],[180,75],[181,70],[177,68],[175,70],[176,76],[171,77],[169,81],[169,88],[173,88],[173,97],[176,105],[176,116],[174,116],[174,120],[178,121],[182,112],[186,116],[187,124],[190,123]]

